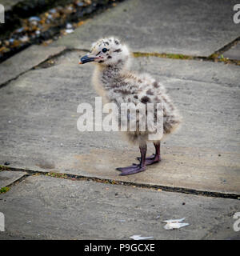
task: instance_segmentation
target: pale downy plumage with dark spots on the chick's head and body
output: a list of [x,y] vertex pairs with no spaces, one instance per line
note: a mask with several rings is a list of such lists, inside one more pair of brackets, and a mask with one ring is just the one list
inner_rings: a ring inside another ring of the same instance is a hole
[[[102,47],[106,47],[106,53],[102,53]],[[90,54],[100,57],[96,62],[93,82],[105,102],[114,102],[118,106],[121,103],[133,103],[135,106],[154,103],[154,114],[151,113],[154,122],[158,114],[162,114],[157,108],[157,103],[162,103],[164,135],[171,134],[178,128],[182,118],[166,94],[162,83],[156,81],[150,74],[138,74],[129,70],[131,55],[126,44],[117,38],[103,38],[93,44]],[[120,118],[118,121],[120,123]],[[127,121],[127,119],[122,120],[126,125]],[[125,134],[130,142],[142,144],[148,141],[147,135],[151,133],[150,129],[147,126],[144,132],[138,129],[142,121],[141,114],[137,114],[137,130],[132,132],[128,126]]]

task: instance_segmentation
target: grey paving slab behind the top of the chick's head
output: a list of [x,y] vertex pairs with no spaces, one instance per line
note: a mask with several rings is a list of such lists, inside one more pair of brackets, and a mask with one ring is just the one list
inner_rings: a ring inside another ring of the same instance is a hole
[[131,0],[86,22],[54,45],[90,49],[114,35],[133,51],[209,56],[238,38],[232,1]]

